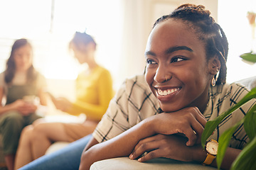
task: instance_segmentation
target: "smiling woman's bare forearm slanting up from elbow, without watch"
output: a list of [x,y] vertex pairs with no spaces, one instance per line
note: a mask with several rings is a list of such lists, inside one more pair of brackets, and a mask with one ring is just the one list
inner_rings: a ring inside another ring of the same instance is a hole
[[139,140],[154,135],[151,127],[151,121],[143,120],[117,137],[90,147],[82,153],[80,170],[90,169],[94,162],[103,159],[129,156]]

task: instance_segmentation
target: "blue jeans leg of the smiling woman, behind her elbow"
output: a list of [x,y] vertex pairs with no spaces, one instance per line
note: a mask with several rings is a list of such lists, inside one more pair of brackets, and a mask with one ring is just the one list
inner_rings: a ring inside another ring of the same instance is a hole
[[50,169],[61,169],[61,170],[73,170],[79,169],[80,158],[85,145],[89,142],[92,135],[82,137],[80,140],[70,143],[67,147],[60,149],[52,154],[44,155],[33,162],[26,164],[19,170],[50,170]]

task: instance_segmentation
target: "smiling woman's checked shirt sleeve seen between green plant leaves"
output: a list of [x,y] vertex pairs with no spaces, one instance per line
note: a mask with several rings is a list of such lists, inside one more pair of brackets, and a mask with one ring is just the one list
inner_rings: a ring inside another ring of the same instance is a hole
[[[224,84],[223,88],[218,88],[215,86],[215,89],[218,91],[214,91],[215,95],[213,107],[210,108],[210,115],[205,115],[209,120],[214,120],[218,115],[223,114],[225,111],[228,111],[229,108],[235,106],[245,95],[248,94],[249,90],[242,86],[241,84]],[[245,117],[246,113],[252,108],[255,104],[256,99],[252,98],[252,100],[248,101],[245,105],[241,106],[237,110],[233,111],[230,115],[226,116],[215,129],[213,135],[211,135],[208,139],[219,140],[219,137],[223,135],[225,130],[233,127],[236,123],[240,122],[242,118]],[[245,128],[243,124],[239,125],[239,127],[233,133],[229,147],[233,147],[236,149],[242,149],[249,142],[249,138],[245,132]]]

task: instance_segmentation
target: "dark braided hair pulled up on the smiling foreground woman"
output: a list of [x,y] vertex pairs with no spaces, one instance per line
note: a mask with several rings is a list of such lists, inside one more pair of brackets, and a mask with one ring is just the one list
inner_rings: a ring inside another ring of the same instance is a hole
[[[171,14],[162,16],[155,23],[153,28],[162,21],[169,18],[185,21],[185,23],[192,28],[198,35],[199,40],[202,40],[206,45],[206,57],[218,56],[220,60],[220,73],[216,84],[225,84],[227,67],[226,60],[228,57],[228,40],[220,28],[218,23],[210,16],[210,11],[205,10],[205,6],[183,4],[178,6]],[[216,77],[216,75],[215,75]]]

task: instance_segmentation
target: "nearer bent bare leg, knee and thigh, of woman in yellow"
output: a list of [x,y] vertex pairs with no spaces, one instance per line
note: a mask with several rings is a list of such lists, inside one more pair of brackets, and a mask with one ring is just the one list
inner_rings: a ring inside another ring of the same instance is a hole
[[32,138],[32,156],[38,159],[46,154],[46,150],[53,142],[68,141],[63,123],[40,123],[34,126]]

